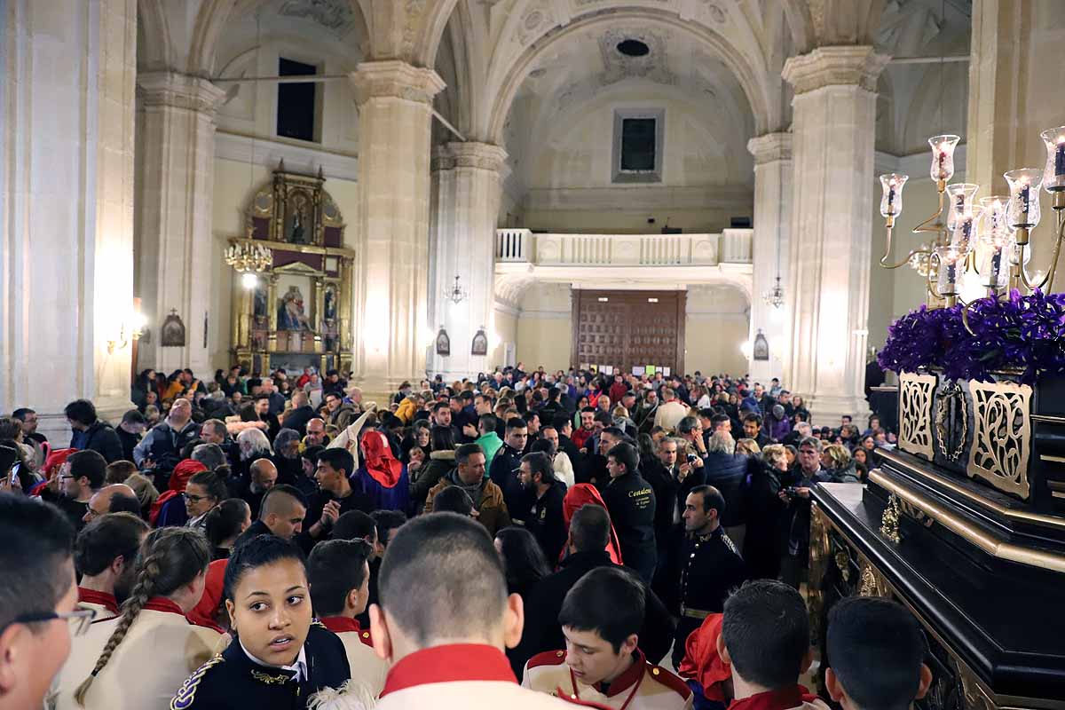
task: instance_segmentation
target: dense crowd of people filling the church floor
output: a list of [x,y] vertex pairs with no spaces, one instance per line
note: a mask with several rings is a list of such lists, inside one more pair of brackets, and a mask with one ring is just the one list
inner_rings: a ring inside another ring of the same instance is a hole
[[[0,710],[824,707],[810,492],[894,443],[700,373],[519,363],[376,403],[335,370],[146,370],[133,400],[68,404],[64,447],[0,419]],[[897,605],[828,639],[845,708],[929,684]]]

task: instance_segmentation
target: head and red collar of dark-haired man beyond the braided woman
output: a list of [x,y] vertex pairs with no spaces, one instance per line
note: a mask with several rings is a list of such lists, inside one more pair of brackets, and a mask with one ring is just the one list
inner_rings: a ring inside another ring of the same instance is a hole
[[108,513],[78,533],[73,563],[81,573],[79,607],[95,609],[97,618],[118,615],[136,581],[134,560],[149,529],[130,513]]

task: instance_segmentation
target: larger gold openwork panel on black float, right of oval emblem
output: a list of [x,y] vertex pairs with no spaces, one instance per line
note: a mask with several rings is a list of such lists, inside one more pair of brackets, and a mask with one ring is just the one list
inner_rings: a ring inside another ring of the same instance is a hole
[[1028,500],[1028,457],[1032,441],[1032,387],[1013,382],[969,381],[972,395],[970,477]]

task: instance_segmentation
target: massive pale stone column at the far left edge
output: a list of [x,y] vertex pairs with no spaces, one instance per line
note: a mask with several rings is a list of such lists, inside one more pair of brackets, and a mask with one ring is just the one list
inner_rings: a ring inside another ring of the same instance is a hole
[[134,0],[0,11],[0,411],[56,448],[131,406],[135,77]]

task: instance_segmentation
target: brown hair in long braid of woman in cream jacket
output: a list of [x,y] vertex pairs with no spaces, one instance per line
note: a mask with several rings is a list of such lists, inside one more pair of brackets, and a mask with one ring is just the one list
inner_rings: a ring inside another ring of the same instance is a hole
[[126,638],[148,599],[173,594],[207,571],[211,547],[203,533],[194,528],[159,528],[145,538],[136,557],[136,583],[122,602],[121,616],[104,644],[93,672],[75,691],[73,699],[85,707],[93,680],[106,667],[111,656]]

